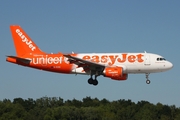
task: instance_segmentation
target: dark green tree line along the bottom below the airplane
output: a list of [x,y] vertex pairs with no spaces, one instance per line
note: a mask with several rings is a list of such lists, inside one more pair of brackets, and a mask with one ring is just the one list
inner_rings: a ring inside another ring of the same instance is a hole
[[0,101],[0,120],[180,120],[180,108],[91,97],[65,101],[61,97],[14,98]]

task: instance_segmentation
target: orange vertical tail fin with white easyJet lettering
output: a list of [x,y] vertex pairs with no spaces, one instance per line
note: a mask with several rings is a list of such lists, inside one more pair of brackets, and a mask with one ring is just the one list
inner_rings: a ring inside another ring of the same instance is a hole
[[26,54],[42,54],[38,46],[31,40],[25,31],[18,25],[10,26],[16,54],[22,57]]

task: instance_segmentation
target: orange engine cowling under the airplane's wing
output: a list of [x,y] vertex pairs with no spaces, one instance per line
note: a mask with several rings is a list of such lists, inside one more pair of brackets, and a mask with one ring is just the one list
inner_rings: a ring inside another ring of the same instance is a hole
[[105,77],[113,80],[127,80],[128,74],[123,74],[122,67],[107,67],[103,71]]

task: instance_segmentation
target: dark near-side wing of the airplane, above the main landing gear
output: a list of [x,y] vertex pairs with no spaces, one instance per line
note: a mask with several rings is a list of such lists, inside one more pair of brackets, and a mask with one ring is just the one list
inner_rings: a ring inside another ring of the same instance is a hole
[[81,58],[72,56],[70,54],[64,54],[66,58],[68,58],[68,61],[70,63],[78,65],[78,67],[83,67],[85,72],[90,72],[92,75],[93,74],[101,74],[101,72],[104,70],[106,67],[103,64],[98,64],[92,61],[88,60],[83,60]]

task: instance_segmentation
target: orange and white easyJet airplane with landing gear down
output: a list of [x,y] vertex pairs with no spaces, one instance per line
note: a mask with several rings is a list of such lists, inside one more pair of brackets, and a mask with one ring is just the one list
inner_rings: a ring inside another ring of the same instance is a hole
[[[88,83],[98,85],[102,75],[112,80],[127,80],[128,74],[149,74],[170,70],[173,64],[161,55],[153,53],[69,53],[43,52],[19,26],[11,25],[16,56],[7,56],[6,61],[39,70],[65,74],[89,75]],[[93,78],[94,77],[94,78]]]

